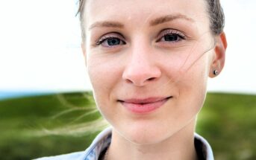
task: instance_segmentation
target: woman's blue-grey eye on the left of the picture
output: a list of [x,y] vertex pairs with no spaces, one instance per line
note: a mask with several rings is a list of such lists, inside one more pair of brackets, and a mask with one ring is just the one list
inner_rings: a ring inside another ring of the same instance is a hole
[[96,45],[102,45],[103,47],[114,47],[116,45],[125,45],[126,42],[119,38],[117,33],[111,33],[110,35],[105,35],[99,40],[97,40]]

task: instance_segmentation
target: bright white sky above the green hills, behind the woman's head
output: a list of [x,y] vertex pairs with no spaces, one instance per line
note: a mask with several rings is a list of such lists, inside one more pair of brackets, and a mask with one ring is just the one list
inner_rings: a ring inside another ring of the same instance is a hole
[[[0,92],[90,90],[76,0],[0,1]],[[256,94],[256,1],[223,0],[225,68],[210,92]]]

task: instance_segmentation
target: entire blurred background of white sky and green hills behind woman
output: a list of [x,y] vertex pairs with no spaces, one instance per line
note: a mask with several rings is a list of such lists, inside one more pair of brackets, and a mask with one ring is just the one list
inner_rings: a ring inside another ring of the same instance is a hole
[[[196,130],[216,160],[256,159],[256,1],[222,6],[225,68],[209,80]],[[76,0],[0,1],[1,159],[84,150],[106,127],[81,53],[77,9]]]

